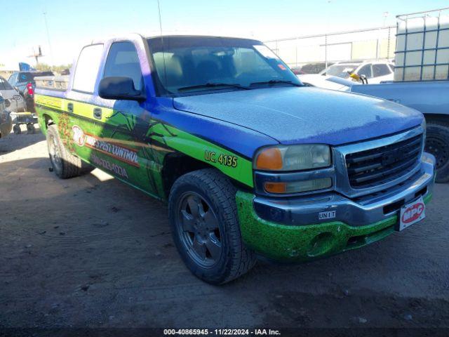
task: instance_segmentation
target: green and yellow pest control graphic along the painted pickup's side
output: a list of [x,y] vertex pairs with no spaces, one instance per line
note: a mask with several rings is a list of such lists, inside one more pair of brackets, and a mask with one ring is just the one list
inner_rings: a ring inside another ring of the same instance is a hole
[[[43,114],[58,124],[63,143],[71,152],[113,176],[166,199],[162,181],[163,160],[178,151],[253,187],[252,163],[229,150],[151,119],[149,112],[136,114],[87,103],[36,95],[39,123]],[[72,105],[69,111],[69,105]],[[94,110],[101,111],[98,118]],[[140,109],[140,107],[138,108]],[[206,152],[213,152],[207,157]],[[136,157],[133,157],[137,154]]]

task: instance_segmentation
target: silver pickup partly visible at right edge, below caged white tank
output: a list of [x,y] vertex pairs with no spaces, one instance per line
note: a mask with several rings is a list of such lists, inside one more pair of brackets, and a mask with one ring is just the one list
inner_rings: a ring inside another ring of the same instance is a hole
[[422,112],[427,121],[425,150],[436,157],[436,183],[449,182],[449,81],[389,81],[349,90]]

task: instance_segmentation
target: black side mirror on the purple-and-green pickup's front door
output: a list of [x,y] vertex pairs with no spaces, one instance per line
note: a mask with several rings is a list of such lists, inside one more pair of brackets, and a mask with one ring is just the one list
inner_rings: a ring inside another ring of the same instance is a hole
[[129,77],[105,77],[100,81],[98,95],[107,100],[145,100],[145,93],[136,90]]

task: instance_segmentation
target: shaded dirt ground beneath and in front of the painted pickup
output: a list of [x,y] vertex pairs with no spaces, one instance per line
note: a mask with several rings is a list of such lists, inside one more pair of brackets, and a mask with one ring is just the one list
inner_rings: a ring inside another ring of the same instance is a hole
[[37,131],[0,140],[0,326],[449,327],[449,185],[382,242],[210,286],[164,204],[99,170],[58,179]]

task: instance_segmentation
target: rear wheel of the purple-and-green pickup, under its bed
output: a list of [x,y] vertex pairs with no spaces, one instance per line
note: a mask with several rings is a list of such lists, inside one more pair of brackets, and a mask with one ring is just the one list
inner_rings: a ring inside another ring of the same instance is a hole
[[66,150],[55,124],[48,126],[46,138],[51,166],[59,178],[77,177],[95,169]]

